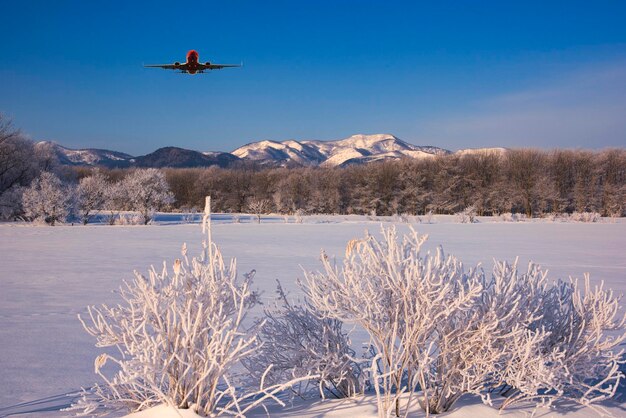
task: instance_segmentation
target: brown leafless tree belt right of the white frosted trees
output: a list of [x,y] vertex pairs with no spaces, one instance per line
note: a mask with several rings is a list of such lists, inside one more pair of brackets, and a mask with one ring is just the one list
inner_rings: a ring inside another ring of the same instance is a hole
[[245,212],[624,216],[626,151],[536,149],[444,155],[340,168],[166,169],[176,207]]

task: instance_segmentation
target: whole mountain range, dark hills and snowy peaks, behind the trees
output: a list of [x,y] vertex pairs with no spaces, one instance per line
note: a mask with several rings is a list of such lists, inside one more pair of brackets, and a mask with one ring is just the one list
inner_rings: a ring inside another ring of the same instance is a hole
[[[72,149],[52,141],[41,141],[36,146],[47,148],[62,165],[108,168],[227,168],[246,162],[262,167],[338,167],[452,154],[452,151],[432,145],[413,145],[391,134],[356,134],[333,141],[266,139],[242,145],[232,152],[195,151],[168,146],[141,156],[97,148]],[[478,148],[459,150],[456,153],[467,155],[504,151],[504,148]]]

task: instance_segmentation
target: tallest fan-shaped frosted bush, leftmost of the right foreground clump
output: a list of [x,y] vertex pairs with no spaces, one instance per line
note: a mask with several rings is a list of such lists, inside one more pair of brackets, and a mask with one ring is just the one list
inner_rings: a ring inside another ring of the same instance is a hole
[[350,241],[341,270],[322,255],[324,271],[306,274],[304,290],[319,312],[368,332],[379,416],[399,416],[415,402],[415,389],[427,385],[438,326],[468,309],[481,283],[442,250],[422,256],[426,236],[412,231],[398,241],[394,228],[382,232],[382,241],[370,235]]

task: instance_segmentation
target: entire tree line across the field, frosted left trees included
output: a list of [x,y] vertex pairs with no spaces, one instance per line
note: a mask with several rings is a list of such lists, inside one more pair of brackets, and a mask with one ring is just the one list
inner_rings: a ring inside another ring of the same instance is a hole
[[626,215],[624,149],[513,149],[333,168],[241,164],[147,173],[61,165],[50,149],[35,146],[0,114],[0,219],[5,220],[50,217],[41,213],[50,202],[40,202],[35,214],[29,207],[36,191],[24,194],[39,187],[42,196],[54,196],[41,192],[50,182],[67,188],[56,194],[67,197],[61,217],[74,213],[83,222],[97,210],[110,211],[110,221],[116,213],[119,219],[120,211],[135,210],[147,222],[157,209],[198,210],[205,196],[212,197],[216,211],[232,213],[420,215],[472,207],[478,215]]

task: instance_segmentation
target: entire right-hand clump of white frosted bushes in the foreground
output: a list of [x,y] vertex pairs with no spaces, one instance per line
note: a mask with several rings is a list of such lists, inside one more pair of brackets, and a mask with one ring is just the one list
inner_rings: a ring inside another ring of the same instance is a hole
[[[548,282],[530,264],[496,262],[491,276],[454,257],[420,254],[426,240],[383,229],[352,240],[343,266],[322,257],[304,291],[324,316],[362,326],[373,347],[369,379],[381,417],[417,401],[448,411],[465,393],[501,408],[568,399],[591,405],[614,395],[626,338],[619,298],[589,278]],[[607,334],[607,331],[616,334]],[[403,393],[407,393],[403,401]]]

